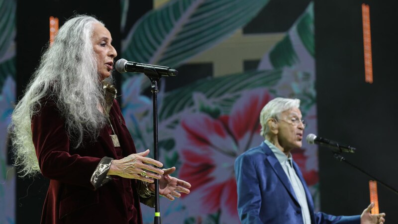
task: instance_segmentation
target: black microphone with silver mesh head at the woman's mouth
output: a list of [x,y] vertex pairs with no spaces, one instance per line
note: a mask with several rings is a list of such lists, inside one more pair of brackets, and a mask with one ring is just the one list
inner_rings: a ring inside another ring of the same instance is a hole
[[151,78],[161,78],[162,76],[177,76],[178,71],[166,66],[142,64],[126,59],[116,61],[115,68],[118,72],[141,72]]

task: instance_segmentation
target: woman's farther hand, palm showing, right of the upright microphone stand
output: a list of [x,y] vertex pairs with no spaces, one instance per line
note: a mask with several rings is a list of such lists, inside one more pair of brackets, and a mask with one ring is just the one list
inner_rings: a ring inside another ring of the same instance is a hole
[[[162,178],[159,180],[159,194],[168,198],[169,200],[173,201],[174,197],[180,198],[182,193],[189,194],[190,190],[188,188],[191,187],[191,184],[177,179],[175,177],[170,176],[169,174],[172,174],[174,171],[176,171],[176,167],[171,167],[169,169],[163,169],[164,174]],[[151,191],[155,191],[155,185],[154,184],[149,184],[148,185],[149,189]]]

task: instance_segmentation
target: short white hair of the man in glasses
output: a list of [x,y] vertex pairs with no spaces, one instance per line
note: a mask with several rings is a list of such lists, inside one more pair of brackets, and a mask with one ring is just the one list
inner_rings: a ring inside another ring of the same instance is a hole
[[267,122],[270,118],[279,118],[281,112],[300,107],[300,100],[289,98],[275,98],[268,102],[260,112],[260,134],[265,138],[270,131]]

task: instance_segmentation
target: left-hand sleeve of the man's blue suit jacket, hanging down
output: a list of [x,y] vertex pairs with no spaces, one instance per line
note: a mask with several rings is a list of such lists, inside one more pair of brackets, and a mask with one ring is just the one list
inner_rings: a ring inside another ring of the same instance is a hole
[[260,220],[261,192],[255,165],[250,156],[235,160],[238,214],[242,224],[263,224]]

